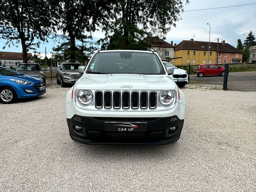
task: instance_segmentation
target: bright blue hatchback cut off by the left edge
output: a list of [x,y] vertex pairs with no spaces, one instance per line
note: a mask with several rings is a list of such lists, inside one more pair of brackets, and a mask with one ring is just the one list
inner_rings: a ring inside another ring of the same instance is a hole
[[24,75],[0,66],[0,101],[14,103],[16,99],[36,97],[46,92],[42,79]]

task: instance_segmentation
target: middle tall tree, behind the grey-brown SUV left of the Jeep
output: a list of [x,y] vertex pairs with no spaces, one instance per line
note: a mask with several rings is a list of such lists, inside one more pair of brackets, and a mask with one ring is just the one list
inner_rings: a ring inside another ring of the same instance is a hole
[[85,61],[95,50],[92,32],[111,15],[109,0],[63,0],[61,7],[58,29],[64,42],[53,51],[58,58]]

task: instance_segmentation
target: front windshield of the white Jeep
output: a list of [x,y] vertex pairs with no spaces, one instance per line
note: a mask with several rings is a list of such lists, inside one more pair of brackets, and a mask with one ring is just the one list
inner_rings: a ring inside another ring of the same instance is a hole
[[96,53],[86,73],[133,73],[144,75],[164,75],[161,60],[148,52],[99,52]]

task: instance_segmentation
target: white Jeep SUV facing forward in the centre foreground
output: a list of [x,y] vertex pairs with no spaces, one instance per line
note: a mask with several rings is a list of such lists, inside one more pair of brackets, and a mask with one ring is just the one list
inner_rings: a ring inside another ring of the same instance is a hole
[[180,138],[185,96],[168,76],[173,68],[149,51],[93,54],[68,91],[70,137],[87,144],[166,144]]

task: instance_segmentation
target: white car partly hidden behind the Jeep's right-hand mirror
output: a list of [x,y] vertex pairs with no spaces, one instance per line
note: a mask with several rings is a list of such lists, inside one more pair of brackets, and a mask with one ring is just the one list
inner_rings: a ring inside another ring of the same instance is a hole
[[169,75],[171,79],[179,86],[184,87],[186,84],[188,84],[188,73],[184,69],[179,69],[172,65],[171,63],[167,61],[163,61],[164,67],[172,67],[174,68],[174,72],[172,75]]

